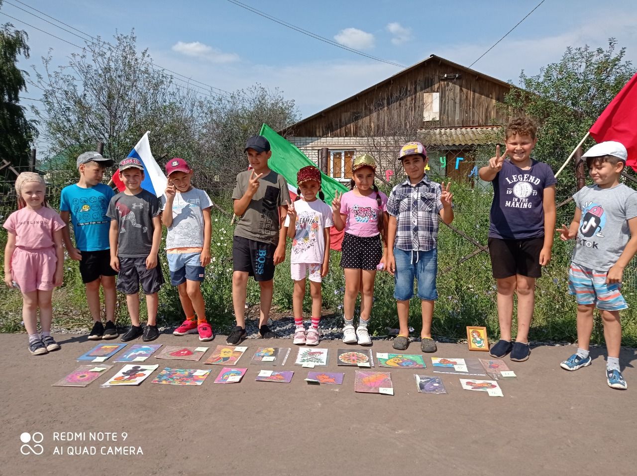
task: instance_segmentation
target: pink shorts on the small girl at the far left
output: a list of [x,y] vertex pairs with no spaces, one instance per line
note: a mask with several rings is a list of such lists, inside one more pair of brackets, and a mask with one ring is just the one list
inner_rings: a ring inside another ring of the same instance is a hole
[[55,265],[57,256],[53,248],[24,249],[16,248],[11,258],[11,274],[18,283],[20,291],[50,291],[55,286]]

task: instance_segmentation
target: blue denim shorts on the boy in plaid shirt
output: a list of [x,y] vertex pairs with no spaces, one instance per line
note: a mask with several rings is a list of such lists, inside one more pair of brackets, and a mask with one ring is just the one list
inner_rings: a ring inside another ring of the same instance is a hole
[[418,283],[418,297],[422,300],[438,299],[436,274],[438,273],[438,250],[403,251],[394,248],[396,274],[394,276],[394,298],[398,301],[413,297],[413,280]]

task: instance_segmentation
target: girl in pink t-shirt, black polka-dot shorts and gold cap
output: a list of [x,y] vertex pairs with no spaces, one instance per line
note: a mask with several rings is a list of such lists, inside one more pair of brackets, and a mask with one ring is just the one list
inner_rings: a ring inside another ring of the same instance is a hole
[[[369,154],[359,155],[352,164],[350,192],[334,198],[334,227],[345,229],[341,246],[341,267],[345,273],[345,298],[343,299],[345,327],[343,342],[369,346],[371,339],[367,325],[374,298],[376,269],[385,267],[385,253],[381,239],[387,235],[385,205],[387,195],[378,192],[374,183],[376,162]],[[354,306],[361,292],[361,319],[354,329]]]

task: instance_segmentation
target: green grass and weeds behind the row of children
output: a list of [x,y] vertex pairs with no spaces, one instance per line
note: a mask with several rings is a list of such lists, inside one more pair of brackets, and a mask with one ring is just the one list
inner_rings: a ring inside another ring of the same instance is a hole
[[[491,195],[480,190],[454,190],[455,220],[454,227],[459,228],[481,244],[487,242],[489,227],[489,206]],[[229,206],[227,207],[229,209]],[[569,223],[572,207],[559,210],[557,223]],[[206,314],[213,328],[227,330],[233,323],[232,311],[232,235],[230,219],[213,209],[213,240],[211,256],[213,262],[206,268],[206,278],[202,284],[206,300]],[[0,232],[0,242],[6,241],[6,232]],[[536,305],[530,339],[543,342],[575,342],[576,322],[575,300],[568,294],[567,272],[573,242],[555,241],[553,258],[538,279]],[[464,339],[466,326],[487,326],[489,336],[498,335],[495,282],[491,277],[489,255],[480,253],[463,263],[459,259],[471,253],[475,246],[441,225],[438,246],[438,294],[434,313],[433,332],[440,337]],[[4,249],[0,250],[4,254]],[[273,305],[282,311],[292,309],[292,279],[290,279],[289,250],[288,259],[276,267]],[[4,258],[4,256],[3,256]],[[169,276],[164,251],[162,269]],[[323,282],[323,304],[335,314],[341,313],[345,281],[339,266],[340,253],[331,252],[331,270]],[[65,328],[87,327],[90,315],[85,302],[83,284],[76,262],[64,263],[64,284],[54,291],[54,325]],[[444,271],[447,267],[450,270]],[[626,270],[623,294],[630,309],[622,311],[624,327],[622,343],[637,347],[637,316],[632,309],[637,307],[637,272],[635,261]],[[259,288],[254,281],[248,285],[247,300],[259,302]],[[375,302],[372,311],[371,332],[385,335],[385,328],[396,328],[396,301],[393,298],[394,280],[386,272],[378,273],[375,284]],[[308,293],[309,294],[309,293]],[[0,289],[0,332],[22,332],[20,310],[22,298],[17,290],[6,287]],[[310,297],[306,295],[304,309],[310,309]],[[290,315],[291,315],[290,311]],[[141,316],[145,315],[142,300]],[[124,296],[118,297],[118,323],[125,325],[127,317]],[[160,326],[177,325],[183,320],[176,288],[168,283],[159,291],[159,312],[157,320]],[[515,323],[515,319],[513,319]],[[420,332],[420,302],[412,300],[410,325],[414,334]],[[514,330],[515,332],[515,330]],[[596,318],[592,342],[603,342],[601,321]]]

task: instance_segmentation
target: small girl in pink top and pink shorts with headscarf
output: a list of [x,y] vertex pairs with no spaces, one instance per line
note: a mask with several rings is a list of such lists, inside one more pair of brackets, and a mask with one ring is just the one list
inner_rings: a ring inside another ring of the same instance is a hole
[[[29,352],[46,354],[60,348],[51,337],[53,289],[62,284],[64,221],[45,202],[47,186],[34,172],[15,181],[18,211],[4,222],[4,283],[22,291],[22,320],[29,334]],[[38,308],[42,337],[38,335]]]

